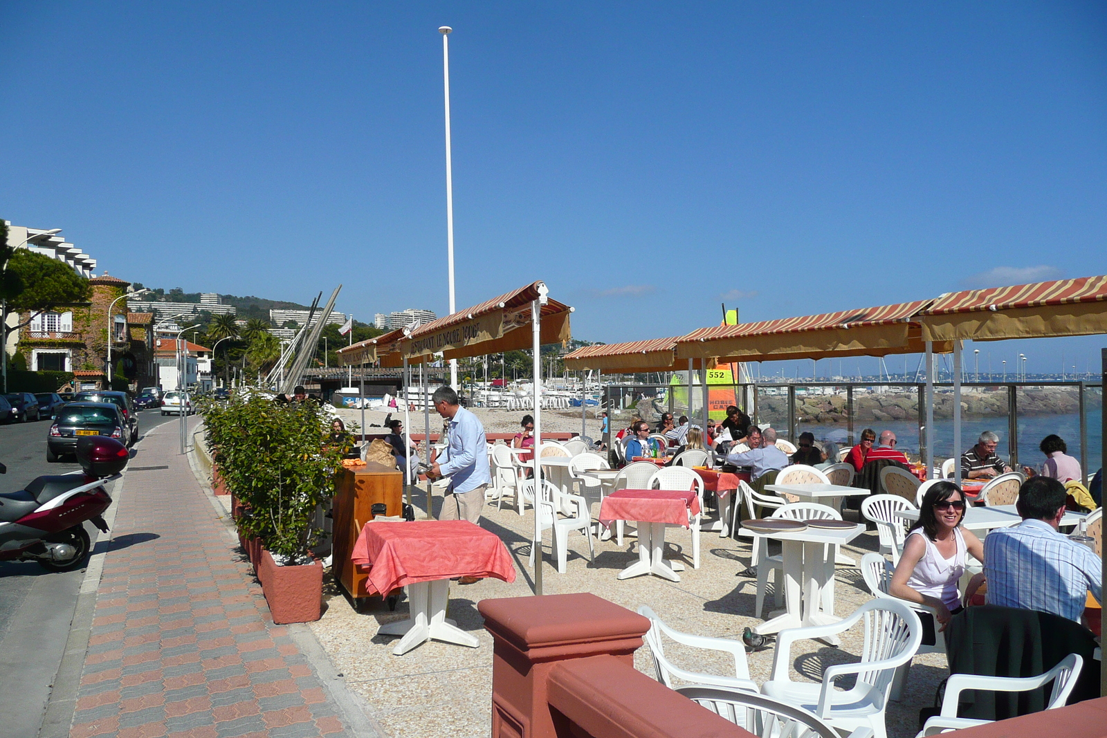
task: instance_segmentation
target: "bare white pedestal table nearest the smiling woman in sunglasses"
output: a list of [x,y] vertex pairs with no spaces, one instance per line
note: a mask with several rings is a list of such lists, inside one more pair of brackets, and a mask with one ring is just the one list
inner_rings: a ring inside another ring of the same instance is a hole
[[[828,584],[832,585],[834,576],[834,567],[828,565],[830,562],[826,560],[825,551],[834,551],[863,532],[865,526],[840,530],[808,528],[798,532],[758,532],[758,536],[780,541],[784,547],[785,610],[774,611],[779,614],[769,613],[772,617],[756,626],[754,632],[767,635],[787,627],[828,625],[841,620],[821,609],[823,590]],[[832,606],[832,600],[830,604]],[[825,640],[831,645],[838,645],[837,636],[827,636]]]

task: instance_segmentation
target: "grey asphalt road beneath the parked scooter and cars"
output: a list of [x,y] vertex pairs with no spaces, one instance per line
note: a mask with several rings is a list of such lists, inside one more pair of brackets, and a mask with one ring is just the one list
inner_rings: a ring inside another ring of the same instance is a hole
[[[142,410],[139,438],[167,420],[179,422],[156,409]],[[8,474],[0,475],[0,492],[22,489],[42,475],[80,469],[75,461],[46,462],[49,430],[50,420],[0,425],[0,462],[8,467]],[[107,491],[112,493],[112,486]],[[85,530],[95,544],[99,531],[90,523]],[[38,735],[83,579],[84,569],[58,573],[33,561],[0,561],[0,738]]]

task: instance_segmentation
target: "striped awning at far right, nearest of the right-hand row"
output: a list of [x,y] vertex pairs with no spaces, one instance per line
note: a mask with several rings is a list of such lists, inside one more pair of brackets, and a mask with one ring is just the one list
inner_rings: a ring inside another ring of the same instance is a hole
[[1107,333],[1107,277],[950,292],[917,319],[933,341]]

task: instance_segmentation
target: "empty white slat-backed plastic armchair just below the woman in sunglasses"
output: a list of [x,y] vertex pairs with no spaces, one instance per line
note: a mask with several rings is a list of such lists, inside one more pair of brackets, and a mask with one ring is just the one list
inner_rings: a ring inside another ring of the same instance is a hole
[[[789,678],[793,643],[841,633],[861,620],[865,644],[858,663],[827,666],[820,684]],[[907,603],[883,597],[869,600],[837,623],[777,633],[773,678],[762,685],[762,694],[810,710],[839,731],[868,727],[876,738],[887,738],[884,711],[892,678],[896,669],[914,656],[921,640],[922,624]],[[846,674],[857,675],[853,687],[836,689],[835,682]]]

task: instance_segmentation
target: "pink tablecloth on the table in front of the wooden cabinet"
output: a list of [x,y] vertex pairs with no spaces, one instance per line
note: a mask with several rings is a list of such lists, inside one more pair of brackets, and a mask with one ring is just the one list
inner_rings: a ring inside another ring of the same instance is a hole
[[468,520],[365,523],[350,560],[371,567],[369,583],[379,594],[454,576],[515,581],[515,567],[504,542]]

